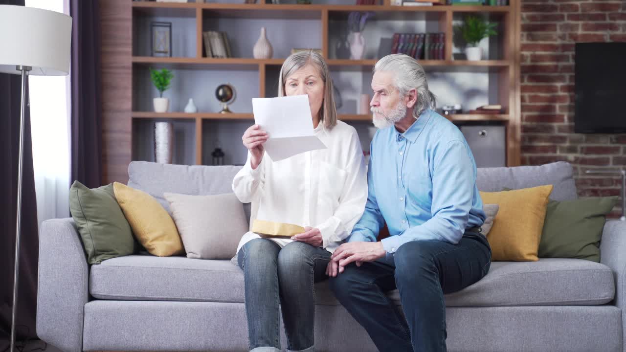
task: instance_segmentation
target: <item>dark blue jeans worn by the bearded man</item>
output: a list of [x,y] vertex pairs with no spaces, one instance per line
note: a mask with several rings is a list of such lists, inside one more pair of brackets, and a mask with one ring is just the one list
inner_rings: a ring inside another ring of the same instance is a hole
[[[485,236],[466,231],[458,244],[408,242],[393,256],[361,267],[351,263],[330,284],[379,351],[442,352],[447,336],[443,295],[479,281],[490,264]],[[384,294],[396,288],[404,316]]]

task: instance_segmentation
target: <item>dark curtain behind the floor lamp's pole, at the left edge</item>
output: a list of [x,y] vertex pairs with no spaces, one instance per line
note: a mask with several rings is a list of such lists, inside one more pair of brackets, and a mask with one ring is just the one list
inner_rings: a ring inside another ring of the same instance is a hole
[[[3,5],[24,5],[24,0],[0,0]],[[28,81],[28,80],[27,80]],[[13,271],[18,200],[19,108],[21,77],[0,73],[0,351],[9,348]],[[28,98],[28,95],[26,95]],[[24,164],[21,239],[19,251],[18,307],[16,339],[36,338],[37,261],[39,236],[37,203],[33,175],[31,117],[28,105],[24,114]]]

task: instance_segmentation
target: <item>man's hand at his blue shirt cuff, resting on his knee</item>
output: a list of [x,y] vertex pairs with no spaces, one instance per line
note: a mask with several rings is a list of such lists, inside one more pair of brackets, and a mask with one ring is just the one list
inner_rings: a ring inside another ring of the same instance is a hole
[[[337,271],[341,274],[351,262],[356,262],[361,266],[362,262],[373,262],[385,256],[387,251],[382,247],[382,242],[348,242],[344,243],[331,256],[331,262],[326,268],[329,276],[337,276]],[[338,268],[333,266],[336,263]],[[337,269],[337,271],[335,270]]]

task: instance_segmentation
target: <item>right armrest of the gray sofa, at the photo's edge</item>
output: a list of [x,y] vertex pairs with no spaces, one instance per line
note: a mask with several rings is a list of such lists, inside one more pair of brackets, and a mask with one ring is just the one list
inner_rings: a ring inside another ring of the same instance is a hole
[[611,268],[615,280],[612,304],[622,309],[622,343],[626,351],[626,221],[610,220],[604,224],[600,242],[600,262]]

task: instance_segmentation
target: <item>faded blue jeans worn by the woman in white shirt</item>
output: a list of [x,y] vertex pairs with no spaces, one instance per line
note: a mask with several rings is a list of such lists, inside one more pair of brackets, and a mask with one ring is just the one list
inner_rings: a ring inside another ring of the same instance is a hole
[[331,253],[304,242],[280,249],[269,239],[244,244],[237,263],[244,271],[249,347],[280,351],[279,303],[288,351],[314,351],[314,282],[327,278]]

